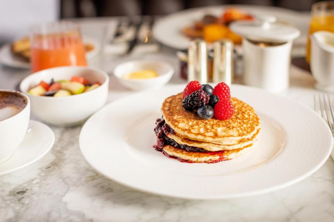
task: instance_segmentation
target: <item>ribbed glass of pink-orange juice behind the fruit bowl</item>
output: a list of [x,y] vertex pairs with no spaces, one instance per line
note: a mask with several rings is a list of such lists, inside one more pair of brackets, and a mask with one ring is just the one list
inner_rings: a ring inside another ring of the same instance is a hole
[[87,66],[79,25],[74,22],[36,25],[31,28],[30,42],[33,73],[56,66]]

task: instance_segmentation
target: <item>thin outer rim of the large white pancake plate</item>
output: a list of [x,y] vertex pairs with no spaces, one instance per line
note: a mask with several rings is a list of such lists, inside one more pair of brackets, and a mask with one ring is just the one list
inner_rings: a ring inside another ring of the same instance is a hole
[[[244,85],[239,85],[239,84],[232,84],[234,86],[237,86],[237,87],[244,87],[244,88],[252,88],[252,89],[255,89],[255,90],[260,90],[260,91],[263,91],[259,88],[255,88],[255,87],[250,87],[250,86],[244,86]],[[166,86],[166,87],[181,87],[181,86],[185,86],[185,84],[175,84],[175,85],[172,85],[172,86]],[[265,93],[268,93],[266,91],[263,91]],[[147,93],[147,91],[143,91],[143,92],[137,92],[137,93],[134,93],[132,95],[129,95],[129,96],[126,96],[126,97],[131,97],[135,94],[141,94],[141,93]],[[274,96],[274,97],[278,97],[280,99],[284,99],[284,100],[287,100],[287,101],[290,101],[292,103],[295,103],[297,106],[300,106],[302,107],[302,109],[307,109],[309,111],[311,111],[313,114],[314,114],[314,117],[316,119],[318,119],[320,122],[322,122],[322,124],[326,124],[326,122],[314,111],[312,110],[311,108],[309,108],[308,106],[304,105],[304,104],[301,104],[301,103],[297,103],[287,97],[284,97],[284,96],[280,96],[280,95],[276,95],[276,94],[273,94],[273,93],[268,93],[270,94],[271,96]],[[282,188],[285,188],[285,187],[288,187],[288,186],[291,186],[295,183],[298,183],[300,181],[302,181],[303,179],[307,178],[308,176],[312,175],[313,173],[315,173],[328,159],[328,157],[330,156],[330,153],[331,153],[331,147],[333,146],[333,137],[331,136],[331,132],[330,132],[330,129],[329,127],[326,128],[327,130],[327,133],[328,136],[330,135],[332,138],[331,141],[330,141],[330,146],[328,147],[328,151],[327,153],[324,155],[322,161],[319,161],[319,163],[314,166],[311,170],[309,170],[308,172],[300,175],[299,177],[296,177],[295,179],[292,179],[288,182],[284,182],[282,184],[279,184],[279,185],[276,185],[276,186],[271,186],[271,187],[268,187],[268,188],[260,188],[258,190],[254,190],[254,191],[247,191],[247,192],[241,192],[241,193],[236,193],[236,194],[223,194],[223,195],[216,195],[216,196],[207,196],[207,195],[180,195],[180,194],[177,194],[177,195],[173,195],[173,194],[169,194],[169,193],[164,193],[164,192],[155,192],[155,191],[152,191],[150,190],[149,188],[142,188],[142,187],[137,187],[135,185],[132,185],[132,184],[129,184],[127,182],[123,182],[121,180],[119,180],[118,178],[112,178],[111,176],[105,174],[104,172],[102,172],[101,170],[99,170],[99,167],[95,166],[95,163],[92,163],[92,160],[90,160],[89,157],[87,157],[85,155],[85,152],[83,151],[83,145],[82,145],[82,140],[83,140],[83,132],[84,130],[86,129],[86,127],[88,126],[88,123],[89,123],[89,120],[91,118],[94,118],[94,116],[96,115],[99,115],[99,113],[104,110],[104,109],[108,109],[109,106],[112,106],[114,102],[117,102],[117,101],[120,101],[120,100],[123,100],[124,98],[126,97],[122,97],[120,99],[117,99],[113,102],[110,102],[109,104],[106,104],[103,108],[101,108],[98,112],[96,112],[95,114],[93,114],[87,121],[86,123],[82,126],[81,130],[80,130],[80,134],[79,134],[79,148],[80,148],[80,151],[83,155],[83,157],[86,159],[86,161],[99,173],[101,173],[102,175],[104,175],[105,177],[107,177],[108,179],[111,179],[123,186],[126,186],[126,187],[129,187],[129,188],[132,188],[134,190],[139,190],[141,192],[144,192],[144,193],[149,193],[149,194],[154,194],[154,195],[159,195],[159,196],[166,196],[166,197],[174,197],[174,198],[182,198],[182,199],[190,199],[190,200],[214,200],[214,199],[231,199],[231,198],[239,198],[239,197],[246,197],[246,196],[255,196],[255,195],[259,195],[259,194],[264,194],[264,193],[269,193],[269,192],[272,192],[272,191],[275,191],[275,190],[279,190],[279,189],[282,189]],[[317,120],[317,121],[318,121]],[[328,137],[329,138],[329,137]],[[280,155],[280,154],[279,154]]]

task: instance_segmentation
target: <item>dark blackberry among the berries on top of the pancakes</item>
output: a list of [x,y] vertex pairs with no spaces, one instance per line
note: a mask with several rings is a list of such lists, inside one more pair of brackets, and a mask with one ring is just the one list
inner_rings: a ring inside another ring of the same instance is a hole
[[205,106],[210,100],[210,96],[206,95],[204,90],[197,90],[182,100],[182,106],[185,110],[191,111]]

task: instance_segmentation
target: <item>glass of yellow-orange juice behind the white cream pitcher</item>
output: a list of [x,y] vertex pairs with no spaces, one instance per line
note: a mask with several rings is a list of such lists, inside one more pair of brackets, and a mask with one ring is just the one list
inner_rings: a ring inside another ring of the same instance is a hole
[[311,57],[310,35],[317,31],[329,31],[334,33],[334,1],[321,1],[312,5],[310,29],[306,48],[306,61],[309,64]]

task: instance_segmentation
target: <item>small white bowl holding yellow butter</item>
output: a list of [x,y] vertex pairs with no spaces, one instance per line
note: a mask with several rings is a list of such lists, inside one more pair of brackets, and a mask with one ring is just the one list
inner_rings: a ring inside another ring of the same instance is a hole
[[[158,73],[158,77],[147,79],[124,79],[123,76],[131,72],[143,69],[152,69]],[[145,90],[150,88],[160,88],[172,78],[174,68],[166,63],[148,60],[133,60],[123,62],[116,66],[114,75],[119,79],[122,85],[133,90]]]

